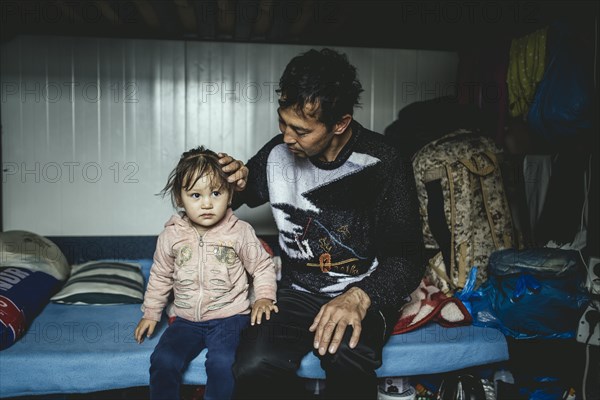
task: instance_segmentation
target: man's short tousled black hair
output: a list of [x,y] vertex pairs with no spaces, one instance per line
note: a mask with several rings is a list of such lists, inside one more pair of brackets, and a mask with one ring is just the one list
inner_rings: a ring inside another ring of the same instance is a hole
[[362,91],[356,68],[345,54],[312,49],[289,62],[277,93],[281,108],[294,107],[303,114],[306,104],[316,105],[310,116],[331,129],[343,115],[353,114]]

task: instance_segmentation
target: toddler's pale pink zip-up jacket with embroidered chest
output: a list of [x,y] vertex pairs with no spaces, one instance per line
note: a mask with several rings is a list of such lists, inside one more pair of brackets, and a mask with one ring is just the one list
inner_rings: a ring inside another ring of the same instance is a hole
[[202,237],[185,216],[173,215],[158,236],[144,296],[144,318],[160,321],[173,290],[169,315],[206,321],[250,312],[248,277],[256,299],[275,301],[275,265],[250,224],[231,208]]

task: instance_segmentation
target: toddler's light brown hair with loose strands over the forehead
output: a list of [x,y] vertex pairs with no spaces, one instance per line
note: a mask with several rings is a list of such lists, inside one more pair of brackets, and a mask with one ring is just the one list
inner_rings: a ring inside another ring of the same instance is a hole
[[228,175],[221,168],[217,153],[204,146],[199,146],[181,155],[177,166],[169,174],[167,184],[159,195],[164,197],[167,193],[170,194],[173,206],[179,207],[182,204],[181,190],[190,190],[204,175],[211,176],[213,188],[234,193],[235,182],[227,182]]

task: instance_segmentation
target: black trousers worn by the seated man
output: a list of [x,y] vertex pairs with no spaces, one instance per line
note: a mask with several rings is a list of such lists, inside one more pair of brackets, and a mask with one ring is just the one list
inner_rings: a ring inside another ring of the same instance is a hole
[[[321,306],[331,298],[296,290],[277,293],[279,313],[262,324],[249,326],[242,334],[233,373],[235,399],[302,398],[303,387],[296,371],[302,358],[313,351],[314,334],[308,328]],[[391,327],[383,315],[369,310],[362,321],[358,345],[348,346],[352,327],[335,354],[320,356],[325,370],[325,396],[331,399],[376,399],[381,352]]]

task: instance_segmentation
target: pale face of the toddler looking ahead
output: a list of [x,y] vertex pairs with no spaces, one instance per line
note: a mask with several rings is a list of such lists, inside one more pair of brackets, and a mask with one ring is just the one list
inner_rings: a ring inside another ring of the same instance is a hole
[[224,188],[215,188],[211,185],[212,179],[212,174],[203,175],[190,190],[181,189],[185,213],[200,233],[223,219],[233,194]]

